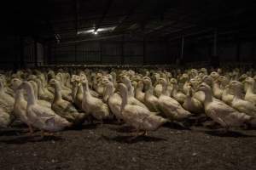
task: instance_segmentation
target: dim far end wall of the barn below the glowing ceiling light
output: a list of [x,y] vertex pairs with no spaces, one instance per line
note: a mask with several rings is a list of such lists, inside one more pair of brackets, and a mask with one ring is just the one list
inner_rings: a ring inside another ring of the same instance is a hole
[[49,64],[168,64],[168,46],[154,41],[90,41],[56,44]]

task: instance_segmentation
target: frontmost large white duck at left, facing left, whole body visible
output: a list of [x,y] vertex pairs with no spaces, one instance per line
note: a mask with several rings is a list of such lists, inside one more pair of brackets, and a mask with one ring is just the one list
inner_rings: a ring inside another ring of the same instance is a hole
[[22,82],[17,89],[26,90],[26,116],[28,122],[30,122],[32,127],[40,129],[43,135],[44,131],[50,133],[58,132],[72,125],[70,122],[67,122],[66,119],[55,114],[50,108],[38,105],[30,82]]

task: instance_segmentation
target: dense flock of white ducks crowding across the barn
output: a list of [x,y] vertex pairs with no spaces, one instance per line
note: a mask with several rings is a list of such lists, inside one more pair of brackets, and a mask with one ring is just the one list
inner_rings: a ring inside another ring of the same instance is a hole
[[59,69],[1,71],[0,127],[30,133],[112,120],[145,134],[205,117],[228,130],[256,127],[256,71]]

